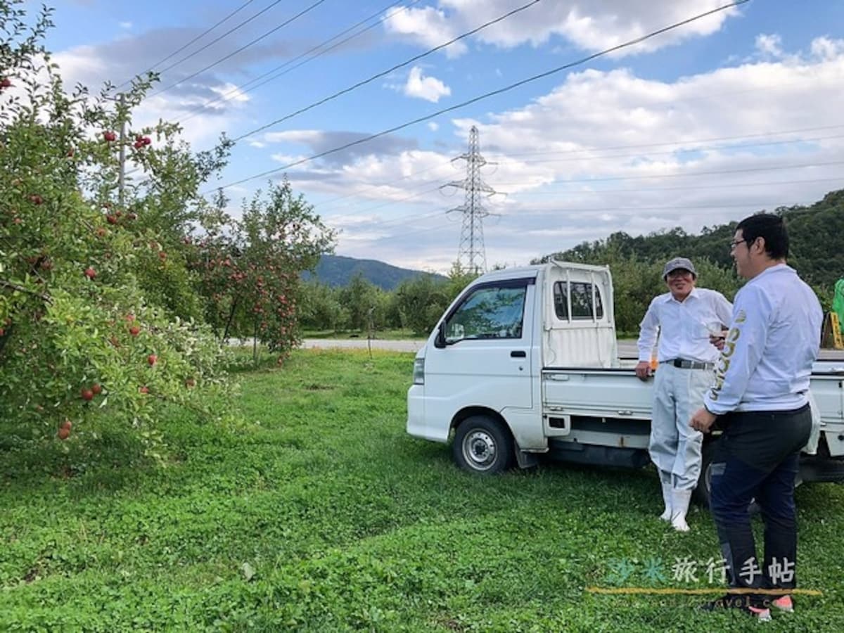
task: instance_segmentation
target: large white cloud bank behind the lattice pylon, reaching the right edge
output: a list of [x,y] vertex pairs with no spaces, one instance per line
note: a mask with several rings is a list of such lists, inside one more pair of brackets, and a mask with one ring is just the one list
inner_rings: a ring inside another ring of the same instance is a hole
[[525,263],[618,230],[697,232],[842,186],[842,81],[844,41],[829,38],[777,61],[672,81],[590,69],[527,106],[454,120],[460,141],[450,154],[371,154],[344,165],[341,178],[308,187],[354,191],[354,203],[317,206],[328,217],[425,214],[412,226],[348,223],[338,252],[446,271],[460,221],[444,212],[463,192],[446,197],[440,187],[465,177],[463,162],[451,160],[476,125],[481,153],[497,163],[482,177],[509,194],[484,201],[500,214],[484,219],[487,262]]

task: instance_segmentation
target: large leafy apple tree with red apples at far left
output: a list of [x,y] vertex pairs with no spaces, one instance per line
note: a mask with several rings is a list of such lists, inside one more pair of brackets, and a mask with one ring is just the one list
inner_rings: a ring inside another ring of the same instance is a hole
[[[0,420],[22,441],[95,441],[110,426],[149,437],[172,403],[225,411],[213,408],[230,392],[225,350],[190,318],[195,308],[149,287],[173,266],[192,294],[187,268],[161,256],[176,235],[144,219],[178,203],[116,191],[114,129],[148,84],[133,85],[124,110],[81,87],[67,94],[41,44],[49,9],[30,26],[19,5],[0,3]],[[208,161],[181,148],[170,170],[156,169],[170,154],[151,139],[124,142],[145,152],[138,161],[159,188],[193,174],[196,191]]]

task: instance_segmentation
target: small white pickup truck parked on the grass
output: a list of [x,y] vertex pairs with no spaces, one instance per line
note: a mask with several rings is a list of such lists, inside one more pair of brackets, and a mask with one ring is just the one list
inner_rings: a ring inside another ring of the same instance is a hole
[[[702,338],[706,324],[691,324]],[[486,273],[448,307],[414,360],[408,434],[447,442],[462,468],[500,473],[538,455],[640,468],[653,381],[619,360],[609,268],[549,262]],[[658,369],[657,369],[658,371]],[[799,482],[844,480],[844,361],[814,365],[814,432]],[[717,433],[705,436],[695,498],[709,497]]]

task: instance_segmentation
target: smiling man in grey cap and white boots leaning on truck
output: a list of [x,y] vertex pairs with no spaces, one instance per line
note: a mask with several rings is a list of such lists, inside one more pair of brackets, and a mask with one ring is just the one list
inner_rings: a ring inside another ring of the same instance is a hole
[[685,257],[663,268],[668,292],[648,306],[639,333],[636,376],[652,376],[652,349],[659,367],[653,386],[651,439],[648,450],[663,487],[665,510],[660,516],[679,532],[688,532],[686,513],[701,474],[703,436],[689,426],[710,387],[719,351],[710,342],[730,322],[733,306],[720,292],[695,288],[697,272]]

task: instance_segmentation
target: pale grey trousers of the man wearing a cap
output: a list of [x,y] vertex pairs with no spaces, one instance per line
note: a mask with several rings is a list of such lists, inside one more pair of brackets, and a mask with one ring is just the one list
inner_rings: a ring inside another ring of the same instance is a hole
[[693,490],[701,474],[703,435],[689,426],[689,420],[703,406],[712,378],[711,370],[663,364],[654,379],[648,451],[659,479],[679,490]]

